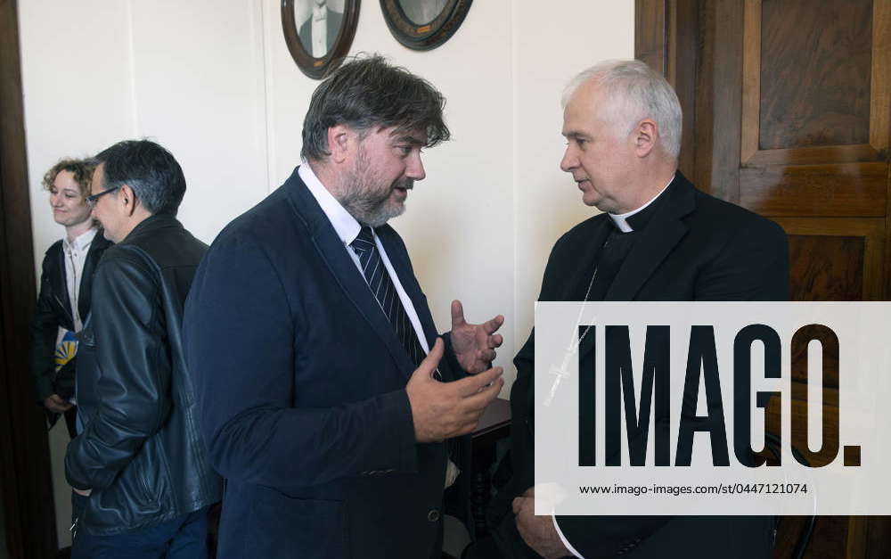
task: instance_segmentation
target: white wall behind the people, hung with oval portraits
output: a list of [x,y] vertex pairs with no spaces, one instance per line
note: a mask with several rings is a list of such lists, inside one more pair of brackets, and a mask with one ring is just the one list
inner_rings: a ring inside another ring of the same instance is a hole
[[[37,262],[61,236],[40,178],[62,156],[149,136],[183,166],[184,225],[211,242],[298,164],[318,84],[290,58],[278,0],[25,0],[22,81]],[[448,99],[454,141],[425,155],[427,179],[393,225],[405,237],[440,330],[459,298],[471,321],[506,317],[497,363],[532,327],[556,238],[592,215],[560,172],[560,92],[574,73],[634,53],[632,0],[476,0],[462,28],[429,52],[390,36],[365,0],[351,53],[377,52]],[[64,434],[53,433],[61,464]],[[55,473],[60,519],[67,488]],[[60,520],[60,540],[69,540]]]

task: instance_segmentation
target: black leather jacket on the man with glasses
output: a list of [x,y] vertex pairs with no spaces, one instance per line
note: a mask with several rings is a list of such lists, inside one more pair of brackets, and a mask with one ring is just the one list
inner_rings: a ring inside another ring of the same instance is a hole
[[85,429],[65,456],[70,485],[93,489],[78,530],[143,528],[221,498],[181,343],[185,297],[205,251],[173,216],[151,216],[96,270],[78,349]]

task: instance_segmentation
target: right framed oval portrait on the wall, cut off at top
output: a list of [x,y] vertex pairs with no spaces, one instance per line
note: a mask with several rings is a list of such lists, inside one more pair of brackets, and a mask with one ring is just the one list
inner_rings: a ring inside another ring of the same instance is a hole
[[461,27],[472,0],[380,0],[396,40],[416,51],[445,43]]

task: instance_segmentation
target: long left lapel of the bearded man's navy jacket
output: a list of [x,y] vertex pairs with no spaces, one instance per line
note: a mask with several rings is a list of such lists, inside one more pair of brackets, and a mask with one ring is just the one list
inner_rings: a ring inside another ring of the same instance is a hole
[[[307,185],[304,185],[297,170],[285,183],[285,188],[291,201],[291,207],[297,213],[298,218],[306,224],[315,250],[331,270],[335,282],[387,347],[399,369],[406,377],[410,376],[414,370],[412,360],[408,357],[402,342],[396,337],[396,331],[380,309],[378,300],[374,298],[364,276],[356,267],[356,262],[347,254],[347,248],[334,230],[334,226],[331,226],[331,221],[325,216],[322,208],[315,201],[315,197],[309,192]],[[388,257],[392,259],[389,248],[387,247],[387,249]],[[394,264],[394,266],[396,265]],[[401,279],[402,275],[399,277]],[[417,308],[417,304],[415,304],[415,308]]]

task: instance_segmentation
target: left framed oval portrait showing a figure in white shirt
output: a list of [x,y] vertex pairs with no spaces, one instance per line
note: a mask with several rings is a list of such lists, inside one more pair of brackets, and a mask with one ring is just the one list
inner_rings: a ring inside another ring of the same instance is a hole
[[282,0],[282,30],[290,55],[310,78],[321,79],[349,52],[359,0]]

